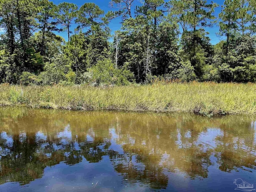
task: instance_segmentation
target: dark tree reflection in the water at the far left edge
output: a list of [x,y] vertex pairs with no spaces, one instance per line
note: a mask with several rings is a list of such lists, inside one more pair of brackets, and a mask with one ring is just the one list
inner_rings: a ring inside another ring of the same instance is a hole
[[4,156],[1,155],[0,159],[1,184],[6,180],[22,181],[26,184],[42,176],[45,166],[34,155],[36,147],[34,139],[34,136],[18,134],[12,136],[12,144],[5,148],[8,152]]

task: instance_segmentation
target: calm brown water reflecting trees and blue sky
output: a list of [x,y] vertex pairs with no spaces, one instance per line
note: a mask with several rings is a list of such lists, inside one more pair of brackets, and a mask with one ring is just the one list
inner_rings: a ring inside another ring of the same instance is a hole
[[255,120],[0,108],[0,191],[255,189]]

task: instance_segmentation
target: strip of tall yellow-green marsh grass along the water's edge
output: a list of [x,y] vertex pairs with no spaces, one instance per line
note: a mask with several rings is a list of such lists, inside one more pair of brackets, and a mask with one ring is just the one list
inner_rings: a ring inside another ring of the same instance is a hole
[[94,88],[0,85],[0,105],[67,110],[256,114],[256,84],[170,83]]

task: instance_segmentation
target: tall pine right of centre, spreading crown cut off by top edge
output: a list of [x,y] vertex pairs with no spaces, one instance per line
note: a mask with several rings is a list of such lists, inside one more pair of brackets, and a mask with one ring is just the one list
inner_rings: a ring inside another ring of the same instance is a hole
[[206,0],[172,0],[170,4],[174,10],[170,12],[170,16],[176,17],[183,28],[181,44],[184,56],[200,79],[204,73],[203,66],[212,54],[210,40],[206,37],[204,28],[215,22],[214,8],[217,4],[207,4]]

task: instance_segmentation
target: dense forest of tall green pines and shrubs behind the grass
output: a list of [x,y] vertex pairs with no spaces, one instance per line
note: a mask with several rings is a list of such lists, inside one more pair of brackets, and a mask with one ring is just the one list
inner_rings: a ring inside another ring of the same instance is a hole
[[[0,83],[256,82],[256,0],[135,1],[112,0],[105,13],[94,3],[0,0]],[[216,45],[213,24],[223,37]]]

